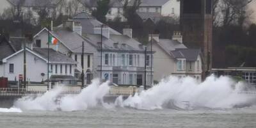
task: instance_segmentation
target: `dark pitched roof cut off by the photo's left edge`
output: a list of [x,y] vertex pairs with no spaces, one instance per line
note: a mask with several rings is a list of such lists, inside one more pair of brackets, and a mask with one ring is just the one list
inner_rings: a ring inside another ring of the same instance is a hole
[[6,40],[4,35],[0,35],[0,60],[3,60],[13,53],[15,53],[15,49],[12,44]]

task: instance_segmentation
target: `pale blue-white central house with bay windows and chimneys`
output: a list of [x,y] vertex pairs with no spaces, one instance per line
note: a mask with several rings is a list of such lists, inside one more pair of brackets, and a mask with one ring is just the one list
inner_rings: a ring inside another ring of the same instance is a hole
[[100,29],[100,26],[96,27],[95,34],[86,35],[97,44],[98,76],[120,86],[152,86],[151,75],[153,76],[154,70],[151,74],[151,60],[147,58],[148,65],[145,68],[145,46],[132,38],[132,29],[124,29],[123,35],[110,35],[108,26],[105,26],[102,28],[102,44]]

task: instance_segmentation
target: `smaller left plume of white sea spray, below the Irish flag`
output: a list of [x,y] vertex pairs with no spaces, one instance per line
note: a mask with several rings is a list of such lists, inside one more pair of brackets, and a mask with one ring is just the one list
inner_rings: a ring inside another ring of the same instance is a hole
[[[103,104],[102,99],[109,92],[109,86],[108,82],[100,84],[99,79],[94,79],[92,84],[77,95],[66,95],[60,98],[61,91],[61,87],[57,87],[44,93],[44,95],[22,97],[14,103],[14,106],[22,110],[86,110]],[[57,102],[57,100],[60,101]]]

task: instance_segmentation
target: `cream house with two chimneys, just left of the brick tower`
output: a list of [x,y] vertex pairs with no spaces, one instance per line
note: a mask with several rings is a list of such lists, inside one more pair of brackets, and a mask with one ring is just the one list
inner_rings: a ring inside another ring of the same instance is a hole
[[[154,80],[161,81],[168,76],[191,76],[201,81],[202,59],[199,49],[188,49],[182,44],[179,32],[175,32],[172,40],[161,39],[159,35],[152,35],[152,38],[152,50],[155,52],[153,67],[156,70]],[[150,43],[148,47],[151,47]]]

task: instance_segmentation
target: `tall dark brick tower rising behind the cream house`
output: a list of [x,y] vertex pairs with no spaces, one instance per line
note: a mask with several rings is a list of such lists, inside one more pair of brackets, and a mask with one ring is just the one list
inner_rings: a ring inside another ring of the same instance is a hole
[[180,0],[184,43],[201,49],[203,77],[212,67],[212,0]]

